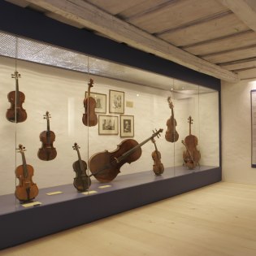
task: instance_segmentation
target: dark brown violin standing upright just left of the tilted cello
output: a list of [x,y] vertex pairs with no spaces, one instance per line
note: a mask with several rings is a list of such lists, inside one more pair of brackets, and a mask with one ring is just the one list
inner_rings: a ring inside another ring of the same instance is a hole
[[80,146],[75,143],[72,148],[73,150],[76,150],[78,155],[78,160],[73,163],[73,169],[76,171],[76,178],[74,178],[73,184],[79,192],[83,192],[89,189],[91,180],[86,174],[87,164],[80,157]]

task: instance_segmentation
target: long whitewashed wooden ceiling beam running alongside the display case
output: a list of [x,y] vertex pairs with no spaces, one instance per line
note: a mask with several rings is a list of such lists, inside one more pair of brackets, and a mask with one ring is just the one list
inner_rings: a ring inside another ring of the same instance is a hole
[[128,46],[155,54],[163,59],[179,63],[184,67],[189,67],[197,72],[202,72],[209,76],[214,76],[221,80],[235,82],[239,77],[218,65],[200,59],[193,54],[180,50],[176,46],[145,33],[139,28],[117,19],[115,16],[106,13],[82,0],[27,0],[39,7],[45,8],[64,18],[76,21],[85,28],[93,29],[103,35],[107,35],[118,41],[122,41]]

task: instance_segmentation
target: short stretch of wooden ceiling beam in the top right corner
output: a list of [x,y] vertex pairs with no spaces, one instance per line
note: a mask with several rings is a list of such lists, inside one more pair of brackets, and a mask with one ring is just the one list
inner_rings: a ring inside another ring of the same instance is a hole
[[218,0],[228,7],[244,24],[256,32],[256,1],[255,0]]

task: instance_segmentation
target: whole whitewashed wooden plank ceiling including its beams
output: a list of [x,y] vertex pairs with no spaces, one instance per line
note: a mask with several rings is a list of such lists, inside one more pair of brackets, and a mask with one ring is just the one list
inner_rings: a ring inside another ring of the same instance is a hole
[[7,0],[221,80],[256,78],[255,0]]

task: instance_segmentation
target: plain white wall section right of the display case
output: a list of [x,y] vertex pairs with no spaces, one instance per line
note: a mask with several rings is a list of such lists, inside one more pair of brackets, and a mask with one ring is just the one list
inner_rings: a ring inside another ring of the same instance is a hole
[[231,84],[222,82],[222,163],[223,180],[256,184],[251,167],[250,90],[255,80]]

